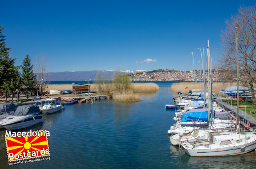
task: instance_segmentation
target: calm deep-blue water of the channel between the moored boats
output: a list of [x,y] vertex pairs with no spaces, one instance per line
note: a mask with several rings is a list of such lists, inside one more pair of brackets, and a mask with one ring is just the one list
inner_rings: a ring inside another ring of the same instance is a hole
[[[170,88],[172,82],[157,82]],[[5,130],[0,130],[0,168],[255,168],[256,153],[230,157],[190,157],[173,146],[167,131],[174,123],[170,90],[142,94],[136,103],[96,100],[66,105],[26,129],[47,129],[50,160],[8,165]]]

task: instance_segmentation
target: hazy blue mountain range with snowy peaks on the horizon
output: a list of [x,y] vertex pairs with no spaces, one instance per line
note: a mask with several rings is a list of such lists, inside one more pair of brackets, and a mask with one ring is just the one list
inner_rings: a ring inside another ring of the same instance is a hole
[[[108,77],[112,78],[113,70],[100,70],[106,72]],[[137,70],[136,72],[143,71]],[[47,73],[48,81],[84,81],[95,80],[98,70],[95,71],[76,71],[76,72],[50,72]],[[133,71],[125,71],[127,74],[134,73]]]

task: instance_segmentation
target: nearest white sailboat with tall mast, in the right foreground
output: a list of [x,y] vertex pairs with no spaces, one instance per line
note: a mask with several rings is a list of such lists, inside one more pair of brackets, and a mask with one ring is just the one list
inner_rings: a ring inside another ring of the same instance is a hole
[[[236,44],[237,29],[236,29]],[[236,45],[237,47],[237,45]],[[238,59],[238,48],[236,49]],[[208,40],[208,65],[210,58],[209,40]],[[209,66],[208,66],[209,67]],[[238,61],[237,61],[238,67]],[[237,68],[238,69],[238,68]],[[237,70],[238,81],[238,70]],[[237,83],[238,85],[238,83]],[[237,86],[238,92],[238,86]],[[210,99],[209,99],[210,100]],[[204,140],[196,139],[192,142],[185,141],[181,145],[186,153],[191,156],[226,156],[248,153],[256,148],[256,135],[254,133],[239,132],[239,96],[237,95],[237,131],[234,132],[208,132]]]

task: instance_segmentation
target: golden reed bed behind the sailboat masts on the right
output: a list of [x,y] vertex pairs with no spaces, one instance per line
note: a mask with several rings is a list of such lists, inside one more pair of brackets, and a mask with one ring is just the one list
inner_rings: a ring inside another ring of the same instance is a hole
[[[212,83],[212,92],[216,94],[223,94],[221,91],[222,89],[226,89],[227,86],[236,86],[236,82],[225,82],[225,83]],[[246,86],[248,87],[248,84],[241,83],[240,86]],[[201,83],[196,83],[196,90],[201,89]],[[174,93],[182,92],[182,93],[188,93],[189,90],[195,90],[195,83],[194,82],[181,82],[181,83],[174,83],[171,86],[171,91]],[[204,90],[204,84],[202,83],[202,90]],[[206,90],[208,90],[206,88]]]

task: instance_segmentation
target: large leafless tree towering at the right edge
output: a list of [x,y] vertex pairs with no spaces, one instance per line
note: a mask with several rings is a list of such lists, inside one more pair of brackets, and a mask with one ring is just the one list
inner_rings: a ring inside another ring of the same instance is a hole
[[[235,70],[236,57],[236,27],[238,27],[238,56],[240,81],[248,83],[252,91],[256,81],[256,6],[240,7],[238,14],[226,21],[226,29],[222,31],[222,55],[220,64],[222,70]],[[235,80],[235,79],[234,79]]]

